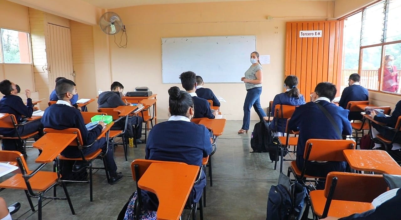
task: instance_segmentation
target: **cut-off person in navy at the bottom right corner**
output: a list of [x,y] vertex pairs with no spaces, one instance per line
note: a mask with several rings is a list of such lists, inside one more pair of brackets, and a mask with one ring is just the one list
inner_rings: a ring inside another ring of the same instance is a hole
[[397,194],[393,198],[383,202],[383,204],[377,206],[375,209],[358,214],[352,214],[343,218],[329,216],[320,220],[396,220],[400,219],[401,216],[401,209],[399,208],[400,204],[401,189],[397,190]]

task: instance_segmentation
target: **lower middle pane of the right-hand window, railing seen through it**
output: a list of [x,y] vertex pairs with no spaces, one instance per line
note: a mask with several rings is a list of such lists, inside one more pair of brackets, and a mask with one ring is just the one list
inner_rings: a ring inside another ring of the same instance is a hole
[[360,85],[365,88],[379,90],[381,47],[382,46],[375,46],[362,49]]

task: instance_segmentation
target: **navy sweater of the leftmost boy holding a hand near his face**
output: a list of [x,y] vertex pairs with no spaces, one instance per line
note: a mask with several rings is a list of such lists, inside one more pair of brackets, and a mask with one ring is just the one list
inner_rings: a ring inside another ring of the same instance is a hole
[[[6,95],[0,100],[0,113],[13,114],[18,122],[21,122],[22,115],[31,117],[33,112],[32,99],[26,99],[26,105],[20,96]],[[0,128],[0,134],[10,136],[15,134],[14,128]]]

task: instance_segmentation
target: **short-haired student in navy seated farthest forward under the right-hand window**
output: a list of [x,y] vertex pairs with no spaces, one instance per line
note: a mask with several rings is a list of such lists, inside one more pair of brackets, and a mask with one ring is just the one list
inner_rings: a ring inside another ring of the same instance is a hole
[[[359,83],[360,76],[357,73],[350,75],[348,79],[348,87],[344,88],[342,91],[340,102],[338,106],[346,109],[348,102],[350,101],[369,101],[369,94],[366,88]],[[361,120],[362,115],[360,112],[350,112],[348,114],[348,120]]]

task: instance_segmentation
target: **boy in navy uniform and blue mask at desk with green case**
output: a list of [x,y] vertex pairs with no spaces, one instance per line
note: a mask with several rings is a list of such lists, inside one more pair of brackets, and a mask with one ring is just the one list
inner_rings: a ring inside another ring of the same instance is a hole
[[[103,122],[88,131],[83,122],[82,114],[76,108],[71,106],[71,98],[77,93],[75,88],[75,83],[71,80],[61,79],[57,81],[56,93],[59,98],[56,104],[49,106],[45,114],[42,117],[42,123],[45,128],[53,128],[56,130],[63,130],[67,128],[78,128],[81,131],[81,136],[83,139],[83,144],[91,144],[100,135],[101,130],[105,126]],[[83,149],[85,155],[95,152],[97,149],[102,149],[103,152],[107,150],[106,138],[100,138],[92,146]],[[79,150],[75,146],[70,146],[65,148],[61,155],[67,158],[78,158],[81,157]],[[116,184],[123,177],[121,172],[117,171],[117,166],[115,165],[113,158],[113,148],[109,147],[107,154],[105,156],[106,166],[110,175],[109,184]],[[78,172],[85,168],[88,164],[82,163],[82,161],[77,160],[73,167],[73,170]]]

